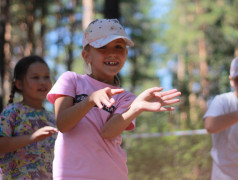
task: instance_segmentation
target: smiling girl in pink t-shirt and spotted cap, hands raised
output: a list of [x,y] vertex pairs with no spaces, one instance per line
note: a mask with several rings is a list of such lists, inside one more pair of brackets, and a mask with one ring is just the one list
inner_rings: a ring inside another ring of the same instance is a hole
[[153,87],[135,97],[119,87],[117,74],[133,46],[116,19],[95,20],[83,36],[87,74],[65,72],[48,93],[59,129],[54,179],[128,180],[121,133],[135,127],[143,111],[172,111],[176,89]]

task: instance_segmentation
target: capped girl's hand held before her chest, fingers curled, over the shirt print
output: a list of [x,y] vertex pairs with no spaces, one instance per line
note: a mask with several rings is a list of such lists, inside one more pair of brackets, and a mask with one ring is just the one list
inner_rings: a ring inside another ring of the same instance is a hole
[[123,92],[124,89],[111,89],[109,87],[106,87],[92,93],[89,96],[89,101],[94,102],[100,109],[103,108],[102,104],[107,107],[111,107],[115,103],[115,100],[112,98],[112,96]]

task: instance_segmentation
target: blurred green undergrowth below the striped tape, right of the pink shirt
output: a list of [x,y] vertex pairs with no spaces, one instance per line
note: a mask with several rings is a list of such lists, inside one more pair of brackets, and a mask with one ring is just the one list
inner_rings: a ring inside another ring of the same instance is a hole
[[209,180],[208,135],[126,139],[130,179]]

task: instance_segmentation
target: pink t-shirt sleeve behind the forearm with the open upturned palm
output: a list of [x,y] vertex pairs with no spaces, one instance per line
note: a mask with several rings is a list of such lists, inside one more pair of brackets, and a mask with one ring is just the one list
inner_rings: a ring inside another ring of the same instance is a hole
[[[134,94],[127,92],[126,95],[123,96],[123,98],[118,103],[117,108],[114,113],[122,114],[122,113],[126,112],[130,108],[130,105],[134,101],[135,98],[136,98],[136,96]],[[136,119],[134,119],[131,122],[131,124],[126,128],[126,130],[131,131],[131,130],[135,129],[135,123],[136,123]]]

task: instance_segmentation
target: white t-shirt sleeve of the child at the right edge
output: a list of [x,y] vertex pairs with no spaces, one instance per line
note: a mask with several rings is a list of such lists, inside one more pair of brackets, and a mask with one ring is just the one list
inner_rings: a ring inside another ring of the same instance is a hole
[[203,116],[203,119],[205,119],[208,116],[220,116],[224,114],[224,108],[223,106],[226,105],[226,100],[221,96],[217,95],[211,102],[211,104],[208,106],[208,110]]

